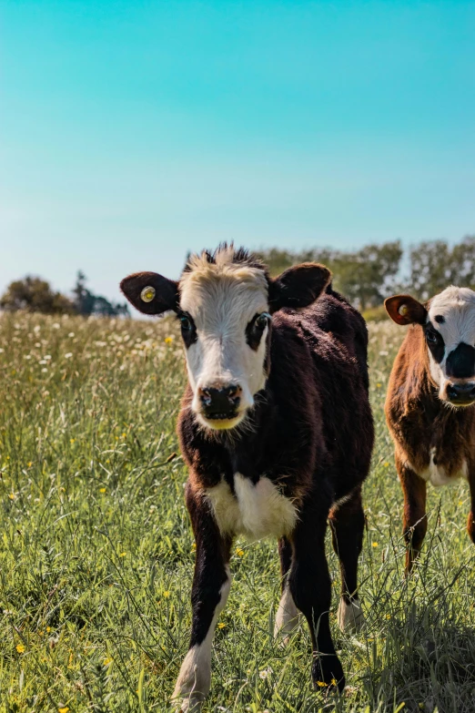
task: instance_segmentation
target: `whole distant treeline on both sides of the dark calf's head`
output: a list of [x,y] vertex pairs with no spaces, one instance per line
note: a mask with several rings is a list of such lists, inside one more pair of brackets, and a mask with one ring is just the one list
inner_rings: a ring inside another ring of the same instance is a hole
[[[475,235],[455,245],[430,240],[406,252],[399,240],[367,245],[354,251],[315,248],[310,250],[258,251],[271,275],[278,275],[298,262],[317,261],[333,273],[333,285],[361,311],[378,308],[389,295],[410,292],[419,300],[444,290],[448,285],[475,290]],[[45,280],[27,276],[15,280],[0,297],[0,309],[40,311],[45,314],[128,316],[126,302],[111,302],[86,287],[86,276],[77,273],[72,297],[52,290]]]

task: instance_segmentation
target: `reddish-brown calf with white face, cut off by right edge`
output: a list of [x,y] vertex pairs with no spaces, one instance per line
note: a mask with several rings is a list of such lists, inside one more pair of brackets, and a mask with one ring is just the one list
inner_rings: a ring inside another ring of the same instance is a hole
[[389,317],[410,324],[389,378],[386,418],[404,493],[406,571],[427,531],[426,488],[466,478],[475,542],[475,292],[448,287],[421,304],[389,297]]

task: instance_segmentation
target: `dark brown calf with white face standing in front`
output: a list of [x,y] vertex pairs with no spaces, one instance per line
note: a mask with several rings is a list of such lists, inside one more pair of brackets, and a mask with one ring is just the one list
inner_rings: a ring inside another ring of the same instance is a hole
[[178,422],[197,545],[191,641],[173,694],[197,710],[231,583],[233,538],[278,538],[284,637],[298,609],[310,626],[315,683],[344,687],[328,613],[328,515],[342,575],[339,625],[362,622],[357,590],[373,423],[367,330],[331,289],[329,271],[298,265],[272,280],[246,250],[220,246],[187,261],[180,280],[154,272],[121,283],[147,314],[174,311],[188,385]]

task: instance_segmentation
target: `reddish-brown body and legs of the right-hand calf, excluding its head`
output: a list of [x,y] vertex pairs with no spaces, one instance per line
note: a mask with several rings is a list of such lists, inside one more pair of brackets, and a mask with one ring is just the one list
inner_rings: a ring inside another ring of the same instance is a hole
[[407,572],[427,531],[428,483],[440,486],[460,477],[469,481],[468,531],[475,542],[475,406],[456,408],[440,398],[439,385],[431,373],[425,335],[429,323],[429,316],[424,316],[423,323],[409,326],[390,374],[385,409],[404,494]]

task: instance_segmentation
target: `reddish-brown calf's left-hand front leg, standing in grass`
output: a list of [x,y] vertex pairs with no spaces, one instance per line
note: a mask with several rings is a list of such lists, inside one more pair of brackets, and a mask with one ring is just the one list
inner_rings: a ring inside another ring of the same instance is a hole
[[402,533],[406,541],[406,575],[409,575],[414,560],[419,556],[420,548],[427,532],[426,481],[396,458],[399,481],[404,494],[404,514]]

